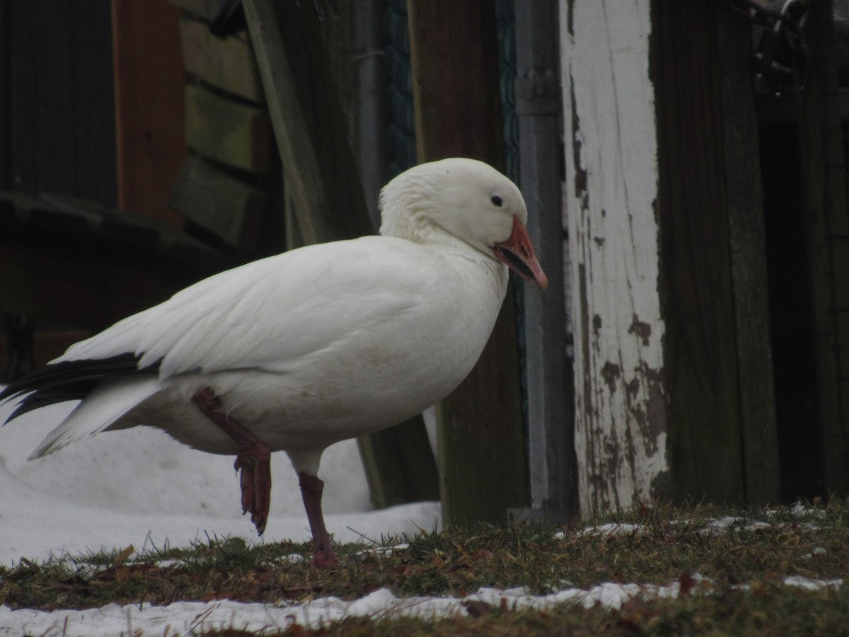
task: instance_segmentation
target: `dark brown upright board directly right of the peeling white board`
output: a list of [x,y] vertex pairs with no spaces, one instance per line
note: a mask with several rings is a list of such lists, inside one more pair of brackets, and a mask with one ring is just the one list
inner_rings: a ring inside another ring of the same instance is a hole
[[672,494],[734,502],[745,460],[716,12],[653,4],[653,79]]

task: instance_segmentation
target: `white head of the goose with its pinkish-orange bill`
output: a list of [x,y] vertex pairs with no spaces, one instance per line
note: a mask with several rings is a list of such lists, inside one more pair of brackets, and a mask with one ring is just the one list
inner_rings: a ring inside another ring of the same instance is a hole
[[548,287],[520,190],[482,161],[453,157],[413,166],[381,190],[380,214],[380,234],[417,243],[453,237],[540,290]]

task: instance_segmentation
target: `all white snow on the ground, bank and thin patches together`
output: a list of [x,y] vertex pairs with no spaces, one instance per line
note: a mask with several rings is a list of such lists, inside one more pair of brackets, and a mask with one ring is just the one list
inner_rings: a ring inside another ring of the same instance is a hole
[[[250,519],[240,515],[233,458],[194,451],[155,429],[106,432],[46,458],[27,461],[32,449],[71,406],[53,405],[0,427],[0,563],[11,565],[21,558],[43,561],[51,555],[79,555],[104,548],[121,550],[130,544],[137,550],[166,544],[184,546],[207,536],[238,536],[250,542],[301,542],[310,538],[295,471],[285,454],[273,454],[274,486],[265,538],[257,538]],[[0,407],[0,422],[11,409],[11,405]],[[327,526],[338,542],[368,544],[381,537],[418,533],[423,528],[431,531],[440,524],[440,508],[434,502],[371,510],[363,465],[353,441],[329,448],[319,475],[326,482]],[[716,527],[733,524],[721,520]],[[637,532],[638,528],[625,524],[584,531]],[[842,585],[841,580],[804,578],[787,578],[785,583],[804,589]],[[492,606],[504,603],[509,608],[544,609],[566,601],[618,608],[634,595],[674,597],[678,589],[677,582],[600,583],[592,589],[565,589],[536,596],[527,595],[525,589],[481,589],[464,599],[397,598],[388,589],[380,589],[359,600],[326,597],[303,603],[216,600],[170,606],[110,604],[55,612],[0,606],[0,637],[147,637],[231,627],[261,634],[292,623],[318,627],[346,616],[445,617],[464,613],[469,601]]]

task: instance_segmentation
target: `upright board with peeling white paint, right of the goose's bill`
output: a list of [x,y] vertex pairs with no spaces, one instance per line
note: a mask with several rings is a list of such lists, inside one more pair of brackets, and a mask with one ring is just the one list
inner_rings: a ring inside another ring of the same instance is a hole
[[668,476],[649,3],[561,0],[566,256],[582,512]]

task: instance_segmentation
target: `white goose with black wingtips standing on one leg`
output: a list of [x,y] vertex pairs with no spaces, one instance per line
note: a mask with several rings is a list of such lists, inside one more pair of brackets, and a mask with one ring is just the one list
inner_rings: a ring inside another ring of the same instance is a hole
[[486,344],[507,270],[545,289],[519,189],[491,166],[415,166],[380,195],[381,236],[311,245],[216,274],[76,343],[15,381],[9,417],[82,402],[31,458],[99,431],[149,425],[235,454],[262,533],[269,455],[301,481],[315,563],[335,561],[322,452],[395,425],[458,386]]

